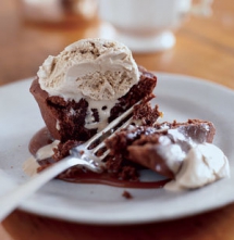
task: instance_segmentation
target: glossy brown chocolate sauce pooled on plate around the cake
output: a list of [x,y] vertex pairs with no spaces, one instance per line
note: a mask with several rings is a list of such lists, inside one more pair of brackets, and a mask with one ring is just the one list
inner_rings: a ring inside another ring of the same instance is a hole
[[[30,153],[35,156],[36,152],[52,142],[52,138],[45,127],[40,129],[35,136],[30,139],[28,149]],[[49,163],[53,163],[52,159],[47,160]],[[40,164],[40,162],[39,162]],[[97,174],[97,173],[79,173],[77,176],[73,178],[62,177],[60,178],[65,181],[71,182],[82,182],[82,184],[101,184],[101,185],[109,185],[114,187],[121,188],[162,188],[170,179],[160,180],[160,181],[126,181],[126,180],[119,180],[111,176],[108,173]]]

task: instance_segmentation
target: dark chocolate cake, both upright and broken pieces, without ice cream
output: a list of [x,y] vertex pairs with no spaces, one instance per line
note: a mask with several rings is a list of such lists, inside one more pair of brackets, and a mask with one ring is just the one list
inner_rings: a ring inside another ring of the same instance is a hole
[[[187,153],[190,142],[202,143],[212,142],[215,132],[214,126],[210,122],[200,119],[189,119],[186,123],[157,123],[161,112],[158,106],[151,108],[149,100],[153,98],[152,90],[156,87],[157,78],[145,68],[139,67],[140,80],[131,90],[119,99],[116,105],[111,110],[109,122],[121,115],[125,109],[144,99],[134,108],[133,125],[115,134],[114,137],[106,141],[110,149],[110,154],[106,157],[106,168],[99,178],[101,182],[109,182],[122,186],[120,181],[139,181],[139,170],[149,168],[170,179],[174,178],[172,169],[167,164],[167,152],[171,147],[178,147],[181,152]],[[97,129],[86,129],[84,126],[87,111],[87,102],[81,100],[64,101],[61,97],[49,97],[40,89],[38,79],[35,79],[30,91],[37,100],[41,115],[47,125],[45,142],[52,142],[59,139],[58,148],[54,148],[52,159],[39,161],[38,172],[50,164],[60,161],[70,154],[70,150],[89,139],[97,132]],[[71,109],[76,114],[70,115]],[[94,110],[95,111],[95,110]],[[98,115],[96,116],[98,121]],[[57,121],[61,121],[58,129]],[[139,123],[140,126],[134,123]],[[172,130],[176,134],[172,134]],[[176,135],[181,135],[177,138]],[[30,152],[35,155],[38,148]],[[180,154],[174,155],[174,164],[180,163]],[[180,164],[178,164],[180,165]],[[58,176],[60,179],[93,182],[97,181],[97,174],[84,170],[79,167],[72,167]],[[85,180],[84,180],[85,179]],[[93,180],[91,180],[93,179]],[[96,180],[94,180],[96,179]],[[110,180],[111,179],[111,180]],[[112,181],[112,182],[111,182]],[[128,187],[133,187],[126,185]],[[145,186],[147,187],[147,186]]]

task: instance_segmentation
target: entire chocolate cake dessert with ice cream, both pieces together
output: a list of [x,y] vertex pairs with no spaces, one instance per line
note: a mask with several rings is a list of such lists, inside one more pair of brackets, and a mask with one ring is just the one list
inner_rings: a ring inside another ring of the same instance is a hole
[[[118,41],[82,39],[48,56],[30,87],[46,124],[29,143],[38,170],[66,156],[141,100],[134,108],[132,124],[106,141],[110,154],[101,174],[75,166],[58,177],[134,188],[175,181],[177,189],[194,189],[229,176],[227,160],[211,147],[213,124],[201,119],[160,123],[162,113],[149,102],[156,85],[155,74],[138,66],[130,49]],[[210,155],[212,151],[219,154]],[[145,168],[167,179],[141,182]]]

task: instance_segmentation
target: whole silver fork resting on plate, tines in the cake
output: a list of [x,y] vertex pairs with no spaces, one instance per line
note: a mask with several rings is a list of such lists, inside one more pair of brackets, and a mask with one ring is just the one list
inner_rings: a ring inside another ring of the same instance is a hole
[[[15,187],[12,191],[1,197],[0,222],[3,220],[4,217],[7,217],[13,210],[15,210],[23,202],[23,200],[28,198],[32,193],[36,192],[46,182],[72,166],[79,165],[82,167],[88,168],[89,170],[101,173],[104,166],[102,160],[108,155],[109,151],[106,150],[100,156],[96,156],[95,153],[97,153],[100,149],[104,147],[104,139],[112,137],[115,131],[123,129],[127,125],[130,125],[130,123],[132,122],[131,115],[135,105],[124,112],[116,119],[111,122],[104,129],[96,134],[88,141],[76,148],[73,148],[69,156],[49,166],[45,170],[35,175],[28,181]],[[130,118],[125,121],[128,116]],[[120,124],[121,126],[119,126]],[[114,129],[116,126],[119,126],[118,129]],[[100,140],[100,143],[94,149],[88,150],[88,148],[97,142],[97,140]]]

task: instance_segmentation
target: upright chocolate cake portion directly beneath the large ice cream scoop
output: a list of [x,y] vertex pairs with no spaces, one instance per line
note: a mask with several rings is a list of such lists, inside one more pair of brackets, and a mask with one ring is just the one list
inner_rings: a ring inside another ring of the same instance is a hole
[[[139,66],[140,79],[131,90],[119,99],[112,108],[109,123],[121,115],[126,109],[143,98],[152,97],[152,90],[157,85],[157,77]],[[61,97],[49,97],[39,86],[36,78],[30,87],[30,92],[36,99],[42,118],[54,139],[65,142],[67,140],[86,141],[97,132],[97,129],[85,128],[85,117],[88,103],[85,99],[79,102],[64,101]],[[75,114],[69,114],[73,110]],[[94,111],[95,121],[98,122],[98,113]],[[59,123],[59,128],[58,128]]]

